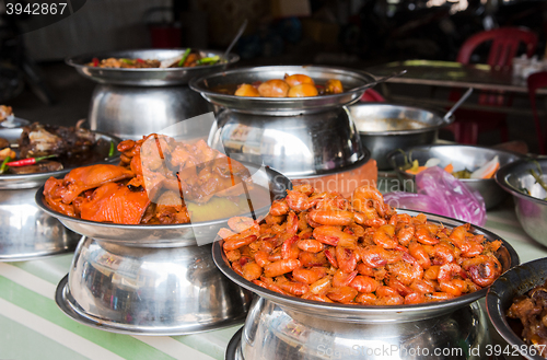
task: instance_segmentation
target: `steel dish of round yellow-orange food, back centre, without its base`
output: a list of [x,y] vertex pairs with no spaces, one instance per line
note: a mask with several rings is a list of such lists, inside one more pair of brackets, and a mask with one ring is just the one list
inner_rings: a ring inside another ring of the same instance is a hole
[[193,79],[190,88],[232,111],[295,115],[352,104],[374,80],[366,72],[346,68],[270,66],[218,71]]

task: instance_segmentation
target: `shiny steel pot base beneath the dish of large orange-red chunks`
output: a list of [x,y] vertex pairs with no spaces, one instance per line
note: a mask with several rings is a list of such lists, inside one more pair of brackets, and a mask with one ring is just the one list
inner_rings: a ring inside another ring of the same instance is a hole
[[251,300],[217,269],[210,244],[136,248],[89,237],[56,292],[59,307],[85,325],[159,336],[241,324]]

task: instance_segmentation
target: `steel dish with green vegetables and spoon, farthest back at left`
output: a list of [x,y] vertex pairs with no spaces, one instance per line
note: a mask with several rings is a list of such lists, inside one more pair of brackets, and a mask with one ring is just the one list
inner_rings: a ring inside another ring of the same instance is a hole
[[85,78],[98,83],[165,86],[187,84],[191,78],[222,70],[240,57],[230,54],[228,59],[216,50],[205,49],[137,49],[81,55],[68,58]]

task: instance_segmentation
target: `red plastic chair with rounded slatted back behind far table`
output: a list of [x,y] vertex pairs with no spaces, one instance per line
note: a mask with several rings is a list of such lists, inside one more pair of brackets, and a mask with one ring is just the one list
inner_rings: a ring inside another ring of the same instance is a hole
[[[469,63],[473,53],[485,43],[491,43],[487,63],[494,70],[507,70],[511,67],[513,58],[517,55],[519,47],[525,45],[525,54],[531,57],[537,47],[537,35],[523,27],[501,27],[481,32],[469,37],[459,49],[457,61]],[[451,101],[461,97],[459,90],[453,90],[449,96]],[[478,98],[479,105],[487,106],[511,106],[512,96],[503,92],[481,92]],[[456,120],[447,127],[452,130],[456,142],[477,143],[478,133],[499,129],[502,141],[509,140],[507,126],[507,114],[488,111],[458,109],[455,113]]]

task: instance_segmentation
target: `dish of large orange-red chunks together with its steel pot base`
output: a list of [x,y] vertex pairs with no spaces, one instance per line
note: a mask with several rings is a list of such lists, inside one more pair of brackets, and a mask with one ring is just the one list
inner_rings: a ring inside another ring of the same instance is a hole
[[115,333],[184,335],[242,323],[252,297],[214,266],[211,241],[233,214],[264,216],[290,181],[163,135],[118,146],[120,162],[49,178],[36,202],[85,237],[57,303]]

